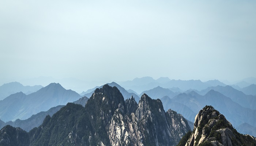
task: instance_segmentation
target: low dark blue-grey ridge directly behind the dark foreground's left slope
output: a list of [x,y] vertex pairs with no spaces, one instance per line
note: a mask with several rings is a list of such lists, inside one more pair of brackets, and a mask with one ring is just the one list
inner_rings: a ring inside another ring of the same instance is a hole
[[4,127],[5,125],[11,125],[13,127],[20,127],[25,131],[30,131],[34,127],[40,126],[43,123],[45,116],[47,115],[52,116],[57,111],[59,111],[61,107],[64,107],[64,105],[58,105],[57,107],[50,108],[48,111],[39,112],[35,115],[32,115],[30,118],[26,120],[17,119],[14,122],[12,121],[6,122],[2,126],[0,125],[0,128]]

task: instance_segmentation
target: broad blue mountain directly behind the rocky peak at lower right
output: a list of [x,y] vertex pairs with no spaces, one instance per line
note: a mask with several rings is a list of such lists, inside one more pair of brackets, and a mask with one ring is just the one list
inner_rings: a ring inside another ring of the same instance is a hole
[[[179,112],[190,121],[193,121],[193,117],[196,116],[196,114],[193,113],[202,109],[204,105],[212,105],[218,108],[221,113],[225,114],[226,118],[233,123],[234,127],[237,127],[242,123],[248,123],[252,126],[256,126],[256,110],[242,107],[229,97],[226,97],[214,90],[207,92],[204,96],[192,91],[190,93],[179,94],[171,100],[168,98],[162,98],[161,100],[163,105],[165,105],[165,109],[169,108],[168,105],[177,105],[173,106],[172,109]],[[187,113],[191,113],[193,117],[191,117],[191,115],[188,116]]]

